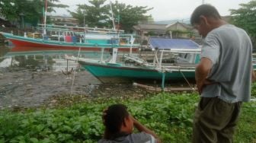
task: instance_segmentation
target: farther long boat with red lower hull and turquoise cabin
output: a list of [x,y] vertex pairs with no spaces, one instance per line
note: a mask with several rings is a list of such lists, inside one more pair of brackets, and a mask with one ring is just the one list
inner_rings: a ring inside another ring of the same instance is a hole
[[[39,28],[39,30],[44,29]],[[139,44],[133,43],[133,34],[124,34],[123,30],[47,25],[46,34],[24,33],[24,37],[21,37],[12,33],[0,33],[14,46],[47,49],[82,48],[88,51],[118,48],[122,52],[135,52],[139,48]]]

